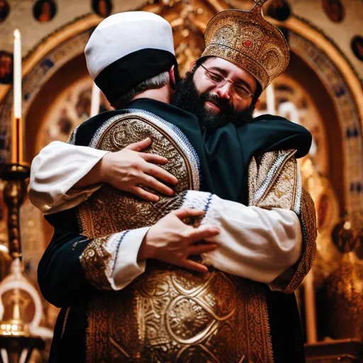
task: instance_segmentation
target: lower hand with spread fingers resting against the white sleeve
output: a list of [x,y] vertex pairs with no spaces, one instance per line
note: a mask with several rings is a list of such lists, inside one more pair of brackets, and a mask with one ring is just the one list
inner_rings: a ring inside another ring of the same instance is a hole
[[194,228],[182,222],[186,217],[200,217],[204,213],[202,210],[183,208],[172,211],[158,220],[147,231],[138,253],[138,260],[154,258],[196,272],[207,272],[208,268],[205,265],[188,257],[216,250],[216,243],[203,241],[202,244],[196,245],[196,242],[218,235],[220,230],[211,226]]

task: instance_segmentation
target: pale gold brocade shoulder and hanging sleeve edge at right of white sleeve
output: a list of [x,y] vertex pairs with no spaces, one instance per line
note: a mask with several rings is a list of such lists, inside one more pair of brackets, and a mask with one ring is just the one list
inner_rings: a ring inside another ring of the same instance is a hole
[[267,209],[290,209],[296,213],[301,223],[303,253],[296,264],[293,277],[284,289],[286,293],[294,292],[311,269],[317,236],[315,206],[310,194],[301,186],[294,153],[294,150],[267,152],[250,164],[250,176],[256,175],[255,178],[250,178],[250,190],[257,189],[254,184],[259,184],[255,196],[250,194],[253,205]]

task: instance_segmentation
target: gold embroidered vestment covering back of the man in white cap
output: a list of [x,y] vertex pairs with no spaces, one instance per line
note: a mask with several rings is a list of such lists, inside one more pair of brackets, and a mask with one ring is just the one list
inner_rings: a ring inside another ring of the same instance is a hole
[[[82,234],[92,238],[82,255],[86,277],[111,290],[105,271],[114,264],[109,235],[152,225],[199,189],[199,161],[175,128],[147,113],[129,112],[104,123],[91,146],[121,150],[152,138],[149,152],[167,157],[179,179],[174,198],[141,201],[103,186],[78,208]],[[121,242],[122,243],[122,242]],[[211,270],[196,274],[157,261],[121,291],[105,291],[88,307],[86,362],[272,362],[264,287]]]

